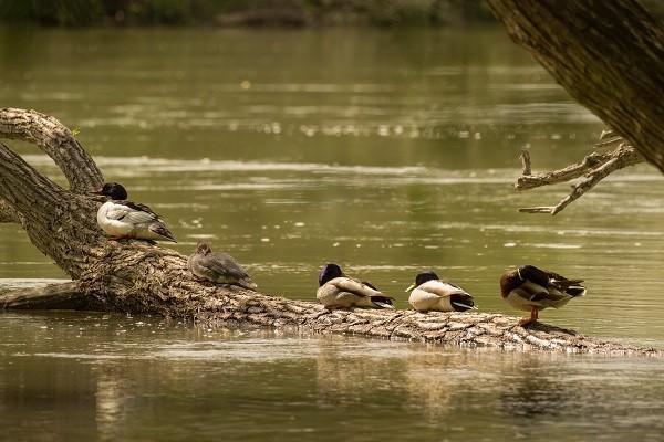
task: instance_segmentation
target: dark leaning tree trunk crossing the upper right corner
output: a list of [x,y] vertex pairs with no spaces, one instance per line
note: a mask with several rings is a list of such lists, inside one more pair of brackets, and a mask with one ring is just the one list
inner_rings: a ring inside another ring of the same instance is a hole
[[636,0],[487,0],[512,40],[664,172],[664,28]]

